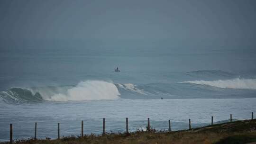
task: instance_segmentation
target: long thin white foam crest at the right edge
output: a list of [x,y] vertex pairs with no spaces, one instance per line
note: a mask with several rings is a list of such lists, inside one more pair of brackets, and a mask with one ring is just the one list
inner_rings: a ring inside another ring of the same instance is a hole
[[200,85],[210,85],[218,88],[229,89],[256,89],[256,79],[231,79],[217,81],[183,81],[180,83],[194,83]]

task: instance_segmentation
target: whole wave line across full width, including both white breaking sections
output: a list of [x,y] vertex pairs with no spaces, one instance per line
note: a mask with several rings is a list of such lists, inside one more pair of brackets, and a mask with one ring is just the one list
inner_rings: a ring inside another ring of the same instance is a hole
[[[188,83],[188,84],[183,84]],[[193,84],[193,85],[192,85]],[[77,85],[11,88],[0,91],[0,102],[83,101],[104,99],[255,98],[256,79],[200,80],[173,83],[81,81]]]

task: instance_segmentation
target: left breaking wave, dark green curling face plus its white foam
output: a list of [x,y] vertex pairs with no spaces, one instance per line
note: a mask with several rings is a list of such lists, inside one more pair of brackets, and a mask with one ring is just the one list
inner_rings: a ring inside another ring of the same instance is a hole
[[118,99],[119,90],[107,81],[82,81],[76,86],[11,88],[0,92],[5,102],[80,101]]

